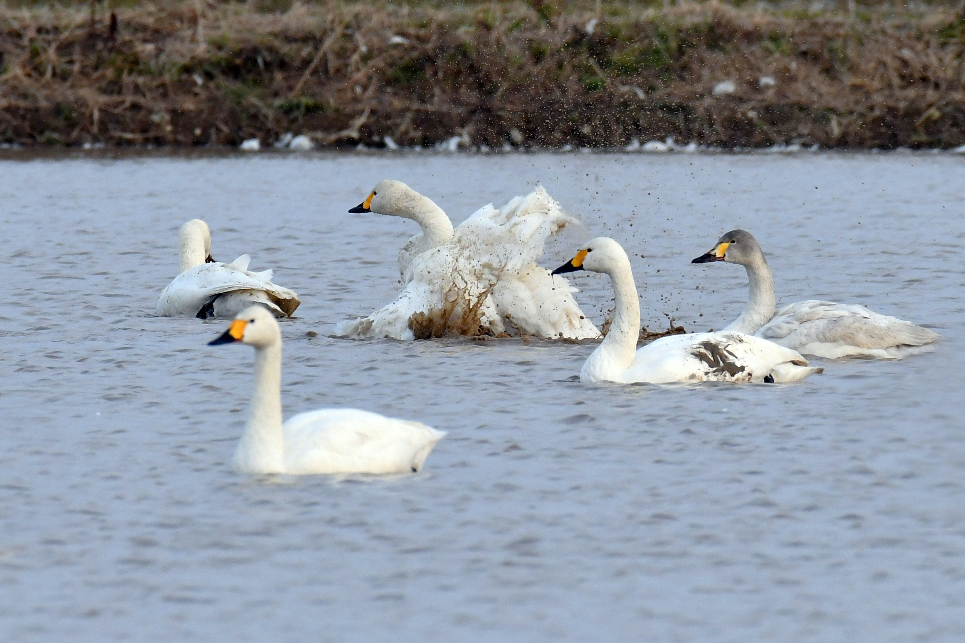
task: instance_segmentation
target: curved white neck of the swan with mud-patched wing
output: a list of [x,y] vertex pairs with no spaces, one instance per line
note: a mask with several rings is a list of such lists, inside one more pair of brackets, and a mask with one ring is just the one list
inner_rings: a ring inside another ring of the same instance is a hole
[[614,373],[629,368],[636,357],[640,336],[640,301],[630,262],[620,262],[609,275],[616,306],[613,323],[583,366],[583,373],[595,375],[594,379],[614,379]]

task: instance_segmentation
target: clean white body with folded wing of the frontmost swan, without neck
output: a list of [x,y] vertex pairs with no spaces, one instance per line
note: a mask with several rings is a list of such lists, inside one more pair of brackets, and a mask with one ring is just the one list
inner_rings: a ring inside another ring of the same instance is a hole
[[295,475],[417,471],[446,435],[420,422],[358,409],[294,415],[283,431],[285,469]]

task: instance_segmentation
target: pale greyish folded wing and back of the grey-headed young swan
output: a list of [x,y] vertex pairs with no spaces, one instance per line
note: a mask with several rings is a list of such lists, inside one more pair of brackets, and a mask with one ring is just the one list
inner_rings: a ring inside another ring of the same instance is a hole
[[781,308],[756,335],[829,359],[900,358],[931,350],[926,344],[939,338],[926,328],[864,306],[817,300]]

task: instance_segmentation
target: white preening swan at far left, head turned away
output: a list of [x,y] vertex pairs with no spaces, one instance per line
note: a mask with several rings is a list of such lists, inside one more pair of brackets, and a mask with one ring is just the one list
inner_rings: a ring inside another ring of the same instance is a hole
[[250,256],[241,255],[231,263],[214,261],[211,232],[201,219],[181,226],[178,237],[179,275],[157,298],[154,314],[159,317],[231,318],[252,304],[261,304],[280,317],[290,317],[298,308],[298,295],[272,283],[272,271],[248,272]]

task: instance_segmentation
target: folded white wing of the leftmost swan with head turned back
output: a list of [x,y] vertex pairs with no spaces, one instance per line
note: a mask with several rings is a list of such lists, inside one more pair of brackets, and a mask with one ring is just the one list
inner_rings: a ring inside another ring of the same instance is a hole
[[[246,256],[238,257],[235,262]],[[244,265],[247,265],[247,261],[244,261]],[[264,293],[275,307],[290,316],[300,303],[298,295],[289,288],[272,283],[270,278],[271,271],[251,273],[238,268],[235,263],[203,263],[185,270],[161,291],[154,313],[161,317],[194,315],[219,295],[255,291]]]

